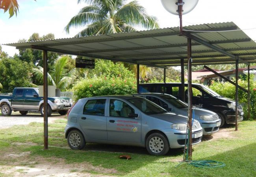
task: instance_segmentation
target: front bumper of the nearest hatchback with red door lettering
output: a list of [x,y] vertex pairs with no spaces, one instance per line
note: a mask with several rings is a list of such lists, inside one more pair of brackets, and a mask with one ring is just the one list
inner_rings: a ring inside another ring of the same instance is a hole
[[[184,147],[186,137],[188,140],[186,131],[180,131],[180,130],[175,130],[175,129],[163,129],[161,131],[163,131],[163,133],[165,133],[165,135],[167,136],[167,138],[169,140],[170,148]],[[202,127],[192,130],[192,144],[197,144],[197,143],[201,142],[202,136],[195,138],[195,135],[198,133],[202,133]],[[187,142],[187,140],[186,140],[186,142]]]

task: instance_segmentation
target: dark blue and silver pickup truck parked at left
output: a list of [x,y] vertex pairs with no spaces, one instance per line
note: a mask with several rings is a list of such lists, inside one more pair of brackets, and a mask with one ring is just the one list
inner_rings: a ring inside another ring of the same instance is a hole
[[[0,95],[0,107],[3,116],[11,115],[12,111],[28,114],[28,111],[40,111],[44,114],[43,97],[39,97],[38,88],[15,88],[10,96]],[[52,111],[65,115],[72,107],[72,100],[67,97],[48,97],[48,116]]]

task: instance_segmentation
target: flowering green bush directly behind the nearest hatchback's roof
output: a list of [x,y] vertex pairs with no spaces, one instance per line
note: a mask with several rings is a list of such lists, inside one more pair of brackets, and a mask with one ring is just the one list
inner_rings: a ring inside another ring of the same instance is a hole
[[73,91],[76,100],[92,96],[132,94],[136,92],[136,81],[134,77],[95,77],[79,81]]

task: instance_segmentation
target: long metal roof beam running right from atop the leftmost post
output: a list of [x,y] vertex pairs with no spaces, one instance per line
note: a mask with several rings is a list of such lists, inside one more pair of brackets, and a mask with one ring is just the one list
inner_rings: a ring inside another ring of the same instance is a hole
[[126,63],[147,65],[147,66],[158,67],[158,68],[167,68],[165,66],[159,66],[159,65],[154,65],[154,64],[150,64],[150,63],[146,64],[146,63],[141,63],[141,62],[136,62],[136,61],[128,61],[128,60],[124,60],[124,59],[113,59],[113,58],[109,58],[109,57],[103,57],[100,55],[92,55],[92,54],[88,54],[88,53],[80,53],[80,52],[74,52],[74,51],[62,50],[62,49],[56,49],[56,48],[50,48],[50,47],[44,47],[44,46],[32,45],[31,48],[35,49],[35,50],[47,50],[50,52],[65,53],[65,54],[70,54],[70,55],[79,55],[79,56],[84,56],[84,57],[93,57],[93,58],[98,58],[98,59],[106,59],[106,60],[112,60],[112,61],[121,61],[121,62],[126,62]]

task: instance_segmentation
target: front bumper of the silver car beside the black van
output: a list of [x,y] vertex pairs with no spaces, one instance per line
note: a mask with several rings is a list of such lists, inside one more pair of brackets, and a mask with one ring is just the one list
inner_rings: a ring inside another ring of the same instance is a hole
[[221,125],[221,120],[217,119],[214,121],[202,121],[202,122],[200,122],[200,125],[203,128],[203,135],[211,135],[214,132],[219,131],[219,126]]

